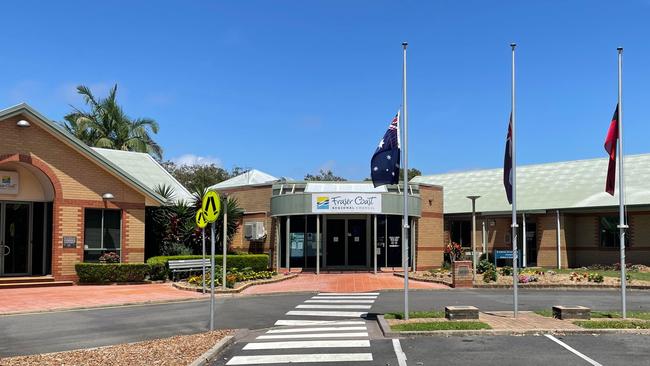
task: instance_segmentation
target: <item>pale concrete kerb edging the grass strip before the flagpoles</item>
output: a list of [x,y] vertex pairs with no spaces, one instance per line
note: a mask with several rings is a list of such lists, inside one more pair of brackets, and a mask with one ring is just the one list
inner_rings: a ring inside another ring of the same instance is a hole
[[436,331],[402,331],[394,332],[383,314],[377,314],[377,324],[384,337],[469,337],[469,336],[541,336],[552,335],[600,335],[600,334],[640,334],[650,335],[650,329],[531,329],[531,330],[436,330]]

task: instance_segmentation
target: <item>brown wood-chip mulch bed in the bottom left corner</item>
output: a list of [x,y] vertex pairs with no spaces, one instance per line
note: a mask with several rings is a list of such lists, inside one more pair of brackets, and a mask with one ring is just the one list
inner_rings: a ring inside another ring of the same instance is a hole
[[0,366],[189,365],[232,330],[181,335],[99,348],[0,358]]

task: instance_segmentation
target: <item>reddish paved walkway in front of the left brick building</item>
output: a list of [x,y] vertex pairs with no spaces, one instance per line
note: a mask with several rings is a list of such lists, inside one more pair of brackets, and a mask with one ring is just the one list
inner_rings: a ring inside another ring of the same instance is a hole
[[0,290],[0,314],[100,307],[203,297],[170,283],[148,285],[35,287]]

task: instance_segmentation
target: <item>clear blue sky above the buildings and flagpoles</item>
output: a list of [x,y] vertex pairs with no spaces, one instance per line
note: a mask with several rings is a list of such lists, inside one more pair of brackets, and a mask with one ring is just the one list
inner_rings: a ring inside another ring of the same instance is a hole
[[519,44],[520,164],[605,157],[625,47],[626,153],[650,152],[650,1],[3,2],[0,107],[53,120],[75,86],[119,84],[133,117],[186,155],[302,178],[369,176],[401,104],[409,46],[410,166],[500,167]]

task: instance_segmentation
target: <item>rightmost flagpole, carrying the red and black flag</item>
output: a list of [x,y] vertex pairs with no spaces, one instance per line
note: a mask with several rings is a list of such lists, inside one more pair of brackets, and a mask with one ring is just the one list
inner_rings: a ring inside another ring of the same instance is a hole
[[628,228],[625,222],[625,181],[623,174],[623,47],[618,47],[618,194],[619,194],[619,225],[621,235],[621,315],[627,318],[627,305],[625,300],[625,289],[627,278],[625,275],[625,229]]

